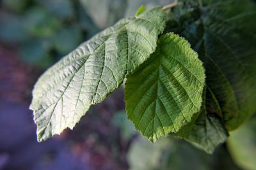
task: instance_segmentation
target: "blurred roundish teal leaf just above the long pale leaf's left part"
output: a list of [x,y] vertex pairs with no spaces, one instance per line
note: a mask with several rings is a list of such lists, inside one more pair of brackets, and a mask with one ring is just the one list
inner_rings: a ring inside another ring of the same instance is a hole
[[53,60],[49,55],[47,41],[35,39],[20,46],[20,57],[24,62],[46,69]]

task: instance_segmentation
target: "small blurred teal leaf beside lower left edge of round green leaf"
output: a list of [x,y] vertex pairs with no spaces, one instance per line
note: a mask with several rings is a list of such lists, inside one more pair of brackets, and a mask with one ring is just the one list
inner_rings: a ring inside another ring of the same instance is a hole
[[112,124],[120,128],[122,139],[129,140],[136,134],[134,125],[127,119],[125,111],[118,111],[113,115]]

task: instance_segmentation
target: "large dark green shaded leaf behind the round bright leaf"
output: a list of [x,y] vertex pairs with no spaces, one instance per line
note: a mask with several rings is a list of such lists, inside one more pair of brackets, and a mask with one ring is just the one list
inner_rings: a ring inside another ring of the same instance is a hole
[[[201,3],[200,3],[201,2]],[[188,39],[204,62],[211,110],[228,131],[256,112],[256,11],[250,0],[184,1],[166,31]]]

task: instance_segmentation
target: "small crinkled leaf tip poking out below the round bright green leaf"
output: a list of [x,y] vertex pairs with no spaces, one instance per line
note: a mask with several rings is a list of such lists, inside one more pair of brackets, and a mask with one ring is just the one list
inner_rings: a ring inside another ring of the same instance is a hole
[[207,153],[212,153],[220,143],[225,142],[228,132],[221,123],[220,118],[216,117],[216,115],[207,115],[207,109],[210,109],[207,101],[211,100],[212,97],[206,95],[211,94],[208,90],[204,90],[200,111],[198,111],[188,125],[182,127],[175,135],[189,141]]

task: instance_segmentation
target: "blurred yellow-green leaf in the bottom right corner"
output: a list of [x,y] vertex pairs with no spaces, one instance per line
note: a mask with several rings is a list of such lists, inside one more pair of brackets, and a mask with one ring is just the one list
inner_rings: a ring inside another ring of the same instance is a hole
[[236,162],[244,170],[256,169],[256,118],[230,132],[228,150]]

